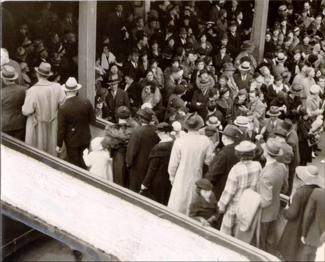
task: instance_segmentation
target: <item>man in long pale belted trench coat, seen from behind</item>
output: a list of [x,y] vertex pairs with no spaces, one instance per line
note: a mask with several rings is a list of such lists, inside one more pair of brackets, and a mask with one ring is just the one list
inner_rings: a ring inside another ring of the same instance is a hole
[[35,66],[38,82],[26,92],[22,113],[27,117],[25,142],[57,156],[58,106],[66,100],[60,84],[50,82],[51,65]]

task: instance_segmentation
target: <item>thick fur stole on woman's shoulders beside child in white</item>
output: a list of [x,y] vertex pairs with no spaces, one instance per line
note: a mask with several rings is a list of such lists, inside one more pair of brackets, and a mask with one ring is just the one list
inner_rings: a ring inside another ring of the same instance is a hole
[[105,136],[110,137],[111,148],[118,149],[127,146],[136,122],[132,119],[128,123],[108,125],[105,128]]

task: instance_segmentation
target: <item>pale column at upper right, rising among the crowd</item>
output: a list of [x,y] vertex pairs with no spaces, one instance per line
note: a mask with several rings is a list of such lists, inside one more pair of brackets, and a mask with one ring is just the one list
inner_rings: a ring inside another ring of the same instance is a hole
[[255,0],[251,41],[256,47],[253,56],[257,64],[261,63],[263,59],[268,2],[269,0]]

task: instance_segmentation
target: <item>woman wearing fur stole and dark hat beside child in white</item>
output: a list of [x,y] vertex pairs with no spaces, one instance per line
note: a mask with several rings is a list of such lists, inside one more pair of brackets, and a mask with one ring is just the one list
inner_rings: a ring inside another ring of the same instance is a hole
[[130,110],[126,106],[119,106],[116,110],[119,123],[108,125],[105,136],[112,138],[110,156],[113,158],[113,182],[127,187],[129,172],[125,163],[126,149],[137,123],[130,117]]

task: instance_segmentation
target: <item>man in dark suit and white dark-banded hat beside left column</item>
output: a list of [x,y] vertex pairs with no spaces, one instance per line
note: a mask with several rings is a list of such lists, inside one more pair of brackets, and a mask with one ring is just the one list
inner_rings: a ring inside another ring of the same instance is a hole
[[96,121],[94,107],[88,98],[77,97],[81,89],[74,77],[69,77],[61,86],[67,99],[58,111],[58,141],[56,151],[61,152],[63,141],[67,148],[68,161],[83,169],[87,169],[83,159],[83,151],[89,149],[91,141],[89,122]]

